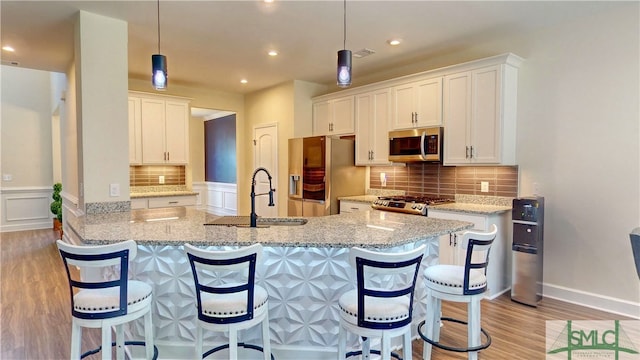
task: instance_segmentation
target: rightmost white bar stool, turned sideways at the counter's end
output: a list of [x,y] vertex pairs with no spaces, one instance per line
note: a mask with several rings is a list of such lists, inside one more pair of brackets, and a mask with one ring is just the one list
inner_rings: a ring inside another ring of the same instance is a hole
[[[469,359],[475,360],[478,358],[478,351],[491,345],[491,337],[480,326],[480,300],[487,291],[489,250],[497,232],[498,228],[494,224],[489,232],[463,233],[462,248],[466,249],[464,266],[441,264],[425,269],[427,315],[426,320],[418,324],[418,333],[425,341],[422,355],[424,360],[431,359],[432,346],[448,351],[467,352]],[[468,322],[448,317],[440,318],[441,300],[466,302]],[[439,342],[442,320],[467,325],[468,347],[457,348]],[[481,344],[481,333],[486,337],[484,344]]]

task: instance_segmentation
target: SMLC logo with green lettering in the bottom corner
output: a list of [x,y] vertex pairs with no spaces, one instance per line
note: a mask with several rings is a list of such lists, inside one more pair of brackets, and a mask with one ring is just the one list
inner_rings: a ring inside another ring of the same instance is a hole
[[640,321],[566,320],[546,325],[547,360],[640,359]]

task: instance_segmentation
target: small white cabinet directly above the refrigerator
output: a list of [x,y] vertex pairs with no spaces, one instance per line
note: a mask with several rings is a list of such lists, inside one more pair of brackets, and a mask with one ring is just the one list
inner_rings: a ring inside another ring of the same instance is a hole
[[313,103],[313,135],[348,135],[355,132],[354,96]]

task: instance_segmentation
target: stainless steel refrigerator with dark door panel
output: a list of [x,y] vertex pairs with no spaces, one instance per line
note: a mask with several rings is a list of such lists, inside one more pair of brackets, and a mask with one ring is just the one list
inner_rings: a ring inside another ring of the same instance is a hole
[[338,197],[365,193],[355,142],[327,136],[289,140],[289,216],[337,214]]

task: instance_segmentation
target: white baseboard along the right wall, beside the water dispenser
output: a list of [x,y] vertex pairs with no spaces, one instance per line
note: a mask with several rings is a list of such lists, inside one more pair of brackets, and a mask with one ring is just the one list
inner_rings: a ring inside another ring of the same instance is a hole
[[640,303],[553,284],[543,284],[543,296],[571,304],[640,319]]

